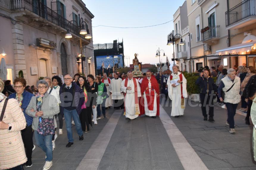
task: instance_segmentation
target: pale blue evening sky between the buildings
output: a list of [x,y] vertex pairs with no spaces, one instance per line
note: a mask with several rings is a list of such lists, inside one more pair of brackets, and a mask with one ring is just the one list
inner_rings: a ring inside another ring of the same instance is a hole
[[[138,53],[139,62],[142,64],[159,63],[155,57],[158,47],[164,50],[171,62],[173,46],[167,46],[167,35],[173,30],[173,14],[184,0],[83,0],[86,7],[95,16],[92,19],[93,44],[113,43],[113,40],[124,41],[124,55],[130,57],[130,64],[134,53]],[[95,27],[107,25],[115,27],[143,27],[158,25],[148,28],[109,28]],[[161,51],[160,60],[166,62]],[[171,62],[172,64],[173,62]],[[125,59],[125,65],[129,61]]]

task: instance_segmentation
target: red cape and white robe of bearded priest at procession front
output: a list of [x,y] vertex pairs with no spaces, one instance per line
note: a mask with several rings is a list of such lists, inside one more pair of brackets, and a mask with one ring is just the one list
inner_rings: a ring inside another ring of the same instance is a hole
[[155,76],[143,78],[141,82],[140,115],[159,116],[159,85]]

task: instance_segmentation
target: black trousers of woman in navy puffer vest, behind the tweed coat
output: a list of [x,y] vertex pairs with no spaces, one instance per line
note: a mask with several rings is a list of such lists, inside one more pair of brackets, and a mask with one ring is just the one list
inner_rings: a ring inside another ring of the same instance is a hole
[[28,159],[31,159],[31,156],[32,156],[33,133],[34,133],[34,131],[32,129],[32,125],[26,126],[25,129],[21,130],[21,137],[22,137],[22,141],[24,143],[26,157]]

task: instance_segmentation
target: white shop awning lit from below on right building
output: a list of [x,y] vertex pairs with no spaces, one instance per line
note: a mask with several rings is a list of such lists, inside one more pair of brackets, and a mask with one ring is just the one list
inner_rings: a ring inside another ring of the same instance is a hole
[[217,50],[215,55],[227,55],[227,54],[246,54],[250,52],[251,49],[256,46],[256,41],[251,41],[248,43],[233,45],[221,50]]

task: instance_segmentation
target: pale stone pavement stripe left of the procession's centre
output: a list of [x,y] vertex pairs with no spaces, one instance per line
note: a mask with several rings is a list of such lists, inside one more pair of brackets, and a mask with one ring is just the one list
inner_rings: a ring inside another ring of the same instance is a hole
[[96,170],[123,110],[115,110],[76,170]]

